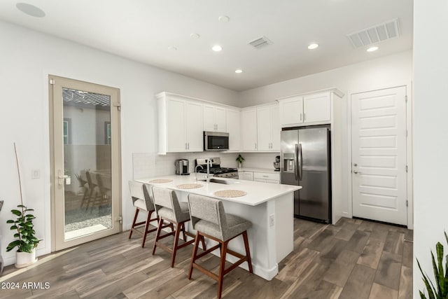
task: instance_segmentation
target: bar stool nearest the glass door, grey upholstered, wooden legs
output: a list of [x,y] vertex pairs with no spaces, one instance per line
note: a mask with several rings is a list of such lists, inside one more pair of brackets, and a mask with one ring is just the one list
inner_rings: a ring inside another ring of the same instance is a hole
[[[158,221],[158,218],[156,217],[151,219],[151,215],[153,214],[155,208],[153,199],[151,198],[151,195],[149,194],[146,186],[143,183],[138,183],[137,181],[129,181],[129,188],[131,191],[132,204],[134,204],[135,207],[134,221],[132,221],[129,238],[132,237],[132,232],[137,232],[143,235],[141,248],[144,248],[146,242],[146,235],[148,235],[148,233],[150,232],[155,232],[155,230],[157,230],[157,228],[153,228],[152,230],[150,230],[149,223],[151,223],[152,221]],[[140,210],[148,212],[148,216],[146,217],[146,221],[140,221],[137,223],[137,216],[139,216]],[[145,225],[144,232],[137,230],[137,228],[141,227],[141,225]]]

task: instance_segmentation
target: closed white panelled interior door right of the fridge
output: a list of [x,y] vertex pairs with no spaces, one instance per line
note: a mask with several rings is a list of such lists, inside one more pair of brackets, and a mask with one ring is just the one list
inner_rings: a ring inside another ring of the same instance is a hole
[[407,225],[406,88],[351,95],[353,216]]

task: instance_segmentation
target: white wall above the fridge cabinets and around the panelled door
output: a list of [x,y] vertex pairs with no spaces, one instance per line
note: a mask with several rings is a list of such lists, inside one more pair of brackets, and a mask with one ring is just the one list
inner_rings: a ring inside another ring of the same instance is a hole
[[[367,55],[370,55],[368,53]],[[398,53],[387,57],[381,57],[367,62],[351,64],[346,67],[324,71],[322,73],[295,78],[272,85],[262,86],[252,90],[246,90],[239,93],[239,103],[244,106],[253,106],[255,104],[265,104],[274,102],[279,97],[297,95],[304,92],[323,90],[326,88],[337,88],[344,92],[342,101],[342,126],[348,127],[347,122],[347,99],[355,92],[376,90],[396,85],[409,84],[412,81],[412,51]],[[408,90],[408,93],[410,91]],[[348,131],[344,130],[342,144],[342,173],[349,176],[349,150],[348,150]],[[251,162],[262,162],[263,157],[252,158]],[[343,182],[348,184],[345,177]],[[342,188],[342,212],[351,216],[351,207],[349,203],[349,186]]]

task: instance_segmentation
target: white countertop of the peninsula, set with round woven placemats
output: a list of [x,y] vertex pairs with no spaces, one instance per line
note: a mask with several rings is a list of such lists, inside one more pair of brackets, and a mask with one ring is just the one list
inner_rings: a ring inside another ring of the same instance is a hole
[[[197,177],[198,179],[200,179],[200,177],[202,178],[203,176],[197,176]],[[171,179],[173,181],[169,183],[149,183],[149,181],[155,179]],[[236,179],[222,179],[222,178],[218,179],[223,181],[235,181],[235,183],[229,185],[223,183],[207,184],[205,181],[196,181],[195,174],[190,174],[189,176],[176,176],[176,175],[158,176],[153,178],[136,179],[135,181],[139,181],[141,183],[149,183],[153,186],[160,186],[162,188],[169,188],[172,190],[178,190],[185,193],[205,195],[217,198],[219,200],[238,202],[240,204],[248,204],[250,206],[256,206],[258,204],[262,204],[263,202],[273,200],[274,198],[279,197],[281,195],[285,195],[295,190],[302,189],[301,186],[282,185],[275,183],[261,183],[257,181],[244,181]],[[177,186],[185,183],[200,183],[203,186],[194,189],[177,188]],[[214,193],[219,190],[242,190],[245,191],[247,194],[239,197],[218,197],[214,195]]]

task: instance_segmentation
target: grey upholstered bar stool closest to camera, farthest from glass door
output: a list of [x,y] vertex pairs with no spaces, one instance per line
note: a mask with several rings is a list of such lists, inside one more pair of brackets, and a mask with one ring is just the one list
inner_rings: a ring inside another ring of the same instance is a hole
[[[221,298],[225,274],[234,270],[244,262],[248,263],[249,272],[253,273],[251,253],[249,251],[247,239],[247,229],[252,226],[252,223],[239,216],[225,214],[223,202],[211,197],[190,194],[188,195],[188,204],[190,206],[190,216],[193,229],[196,230],[196,242],[193,249],[193,257],[191,258],[190,270],[188,271],[188,279],[191,279],[193,268],[207,274],[209,277],[218,281],[218,298]],[[235,237],[238,237],[239,235],[243,235],[246,256],[228,249],[228,243],[230,240],[235,239]],[[213,239],[218,242],[218,244],[207,249],[203,253],[197,254],[197,240],[204,237]],[[195,263],[198,258],[201,258],[207,253],[210,253],[218,248],[221,248],[221,263],[219,266],[218,275]],[[228,269],[225,269],[225,256],[227,253],[230,253],[232,256],[236,256],[239,260],[228,267]]]

